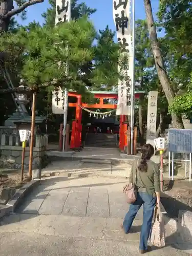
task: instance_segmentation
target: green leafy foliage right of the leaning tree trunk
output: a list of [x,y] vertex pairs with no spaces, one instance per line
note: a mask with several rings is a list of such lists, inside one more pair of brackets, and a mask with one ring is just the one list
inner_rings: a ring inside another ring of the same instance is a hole
[[[169,113],[192,116],[191,65],[192,65],[192,1],[169,0],[160,2],[158,17],[165,29],[163,38],[166,53],[167,72],[174,91],[180,96],[174,98]],[[181,90],[181,92],[180,92]]]

